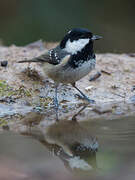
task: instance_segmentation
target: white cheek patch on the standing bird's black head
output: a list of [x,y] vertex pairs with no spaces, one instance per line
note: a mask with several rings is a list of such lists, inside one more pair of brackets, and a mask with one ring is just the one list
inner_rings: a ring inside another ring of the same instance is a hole
[[71,42],[70,39],[67,41],[65,46],[65,51],[71,54],[76,54],[78,51],[81,51],[86,44],[89,43],[89,39],[78,39],[76,41]]

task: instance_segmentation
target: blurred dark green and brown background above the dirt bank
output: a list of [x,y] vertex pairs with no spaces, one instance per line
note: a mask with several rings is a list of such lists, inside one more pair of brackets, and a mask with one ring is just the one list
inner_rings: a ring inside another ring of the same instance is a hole
[[60,41],[73,27],[103,36],[96,43],[96,52],[135,52],[135,1],[0,0],[4,45]]

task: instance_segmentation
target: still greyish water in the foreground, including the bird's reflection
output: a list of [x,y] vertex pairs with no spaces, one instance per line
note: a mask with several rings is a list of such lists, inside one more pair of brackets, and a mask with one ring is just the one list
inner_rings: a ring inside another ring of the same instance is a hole
[[4,131],[0,144],[0,179],[135,178],[135,117]]

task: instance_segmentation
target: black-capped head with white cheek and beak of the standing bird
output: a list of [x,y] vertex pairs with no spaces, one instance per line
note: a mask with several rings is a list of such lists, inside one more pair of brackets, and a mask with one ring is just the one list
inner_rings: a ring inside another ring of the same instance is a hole
[[71,54],[77,54],[88,45],[93,48],[93,41],[100,38],[94,36],[88,29],[74,28],[62,39],[60,47]]

